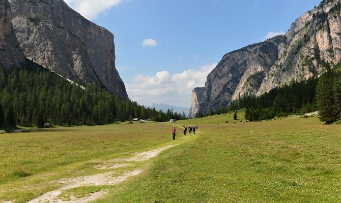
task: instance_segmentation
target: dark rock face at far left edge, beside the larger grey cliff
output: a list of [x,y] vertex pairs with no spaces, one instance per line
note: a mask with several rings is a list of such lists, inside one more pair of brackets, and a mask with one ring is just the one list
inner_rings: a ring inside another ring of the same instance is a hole
[[10,4],[0,0],[0,67],[4,69],[18,67],[26,60],[15,38],[11,19]]

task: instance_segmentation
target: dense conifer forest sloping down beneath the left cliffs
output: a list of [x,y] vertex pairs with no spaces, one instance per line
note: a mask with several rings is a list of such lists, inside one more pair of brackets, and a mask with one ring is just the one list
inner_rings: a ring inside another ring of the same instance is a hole
[[21,126],[103,125],[132,118],[153,121],[185,119],[168,110],[166,113],[138,105],[89,85],[85,89],[29,61],[23,69],[5,72],[0,69],[0,128]]

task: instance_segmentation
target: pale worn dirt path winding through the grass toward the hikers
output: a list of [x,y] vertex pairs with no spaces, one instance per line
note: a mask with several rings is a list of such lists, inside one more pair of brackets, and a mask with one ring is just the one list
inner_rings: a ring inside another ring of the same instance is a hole
[[[157,156],[163,150],[169,149],[174,146],[175,145],[169,145],[169,146],[161,147],[161,148],[154,149],[154,150],[147,151],[147,152],[135,153],[134,156],[128,157],[128,158],[116,158],[116,159],[110,159],[106,161],[95,161],[95,162],[98,162],[98,165],[94,167],[98,170],[115,170],[117,168],[121,168],[121,167],[125,167],[129,165],[129,163],[121,163],[121,162],[145,161],[145,160],[148,160]],[[81,197],[81,198],[76,198],[74,196],[71,196],[70,199],[65,200],[65,201],[60,199],[59,195],[61,195],[63,191],[65,190],[69,190],[69,189],[77,188],[81,186],[89,186],[89,185],[102,186],[102,185],[119,184],[127,180],[131,176],[137,176],[141,172],[142,170],[135,169],[135,170],[126,172],[121,176],[115,176],[116,173],[115,171],[113,171],[113,172],[99,173],[99,174],[92,175],[92,176],[82,176],[82,177],[71,178],[71,179],[62,179],[58,181],[59,183],[63,185],[62,188],[47,192],[35,199],[32,199],[31,201],[28,201],[28,203],[42,203],[42,202],[85,203],[85,202],[92,201],[92,200],[95,200],[97,198],[104,196],[105,194],[107,194],[107,191],[102,190],[102,191],[94,192],[94,193],[88,194],[88,196],[86,197]]]

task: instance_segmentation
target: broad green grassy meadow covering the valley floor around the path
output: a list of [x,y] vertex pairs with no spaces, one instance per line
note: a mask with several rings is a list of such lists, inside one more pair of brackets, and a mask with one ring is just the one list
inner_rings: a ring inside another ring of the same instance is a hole
[[[238,117],[243,117],[243,111]],[[58,180],[143,170],[126,181],[66,190],[60,198],[106,194],[94,202],[340,202],[341,125],[317,117],[231,122],[233,114],[176,123],[56,127],[0,134],[0,202],[26,202],[60,188]],[[225,121],[230,121],[225,124]],[[219,124],[217,124],[219,123]],[[181,136],[182,125],[198,125]],[[98,170],[94,160],[158,156]]]

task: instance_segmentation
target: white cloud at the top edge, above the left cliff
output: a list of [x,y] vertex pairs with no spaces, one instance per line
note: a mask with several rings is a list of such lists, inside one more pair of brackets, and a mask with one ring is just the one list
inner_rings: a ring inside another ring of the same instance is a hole
[[123,0],[65,0],[65,3],[88,20],[93,20],[111,7],[119,5],[122,1]]

